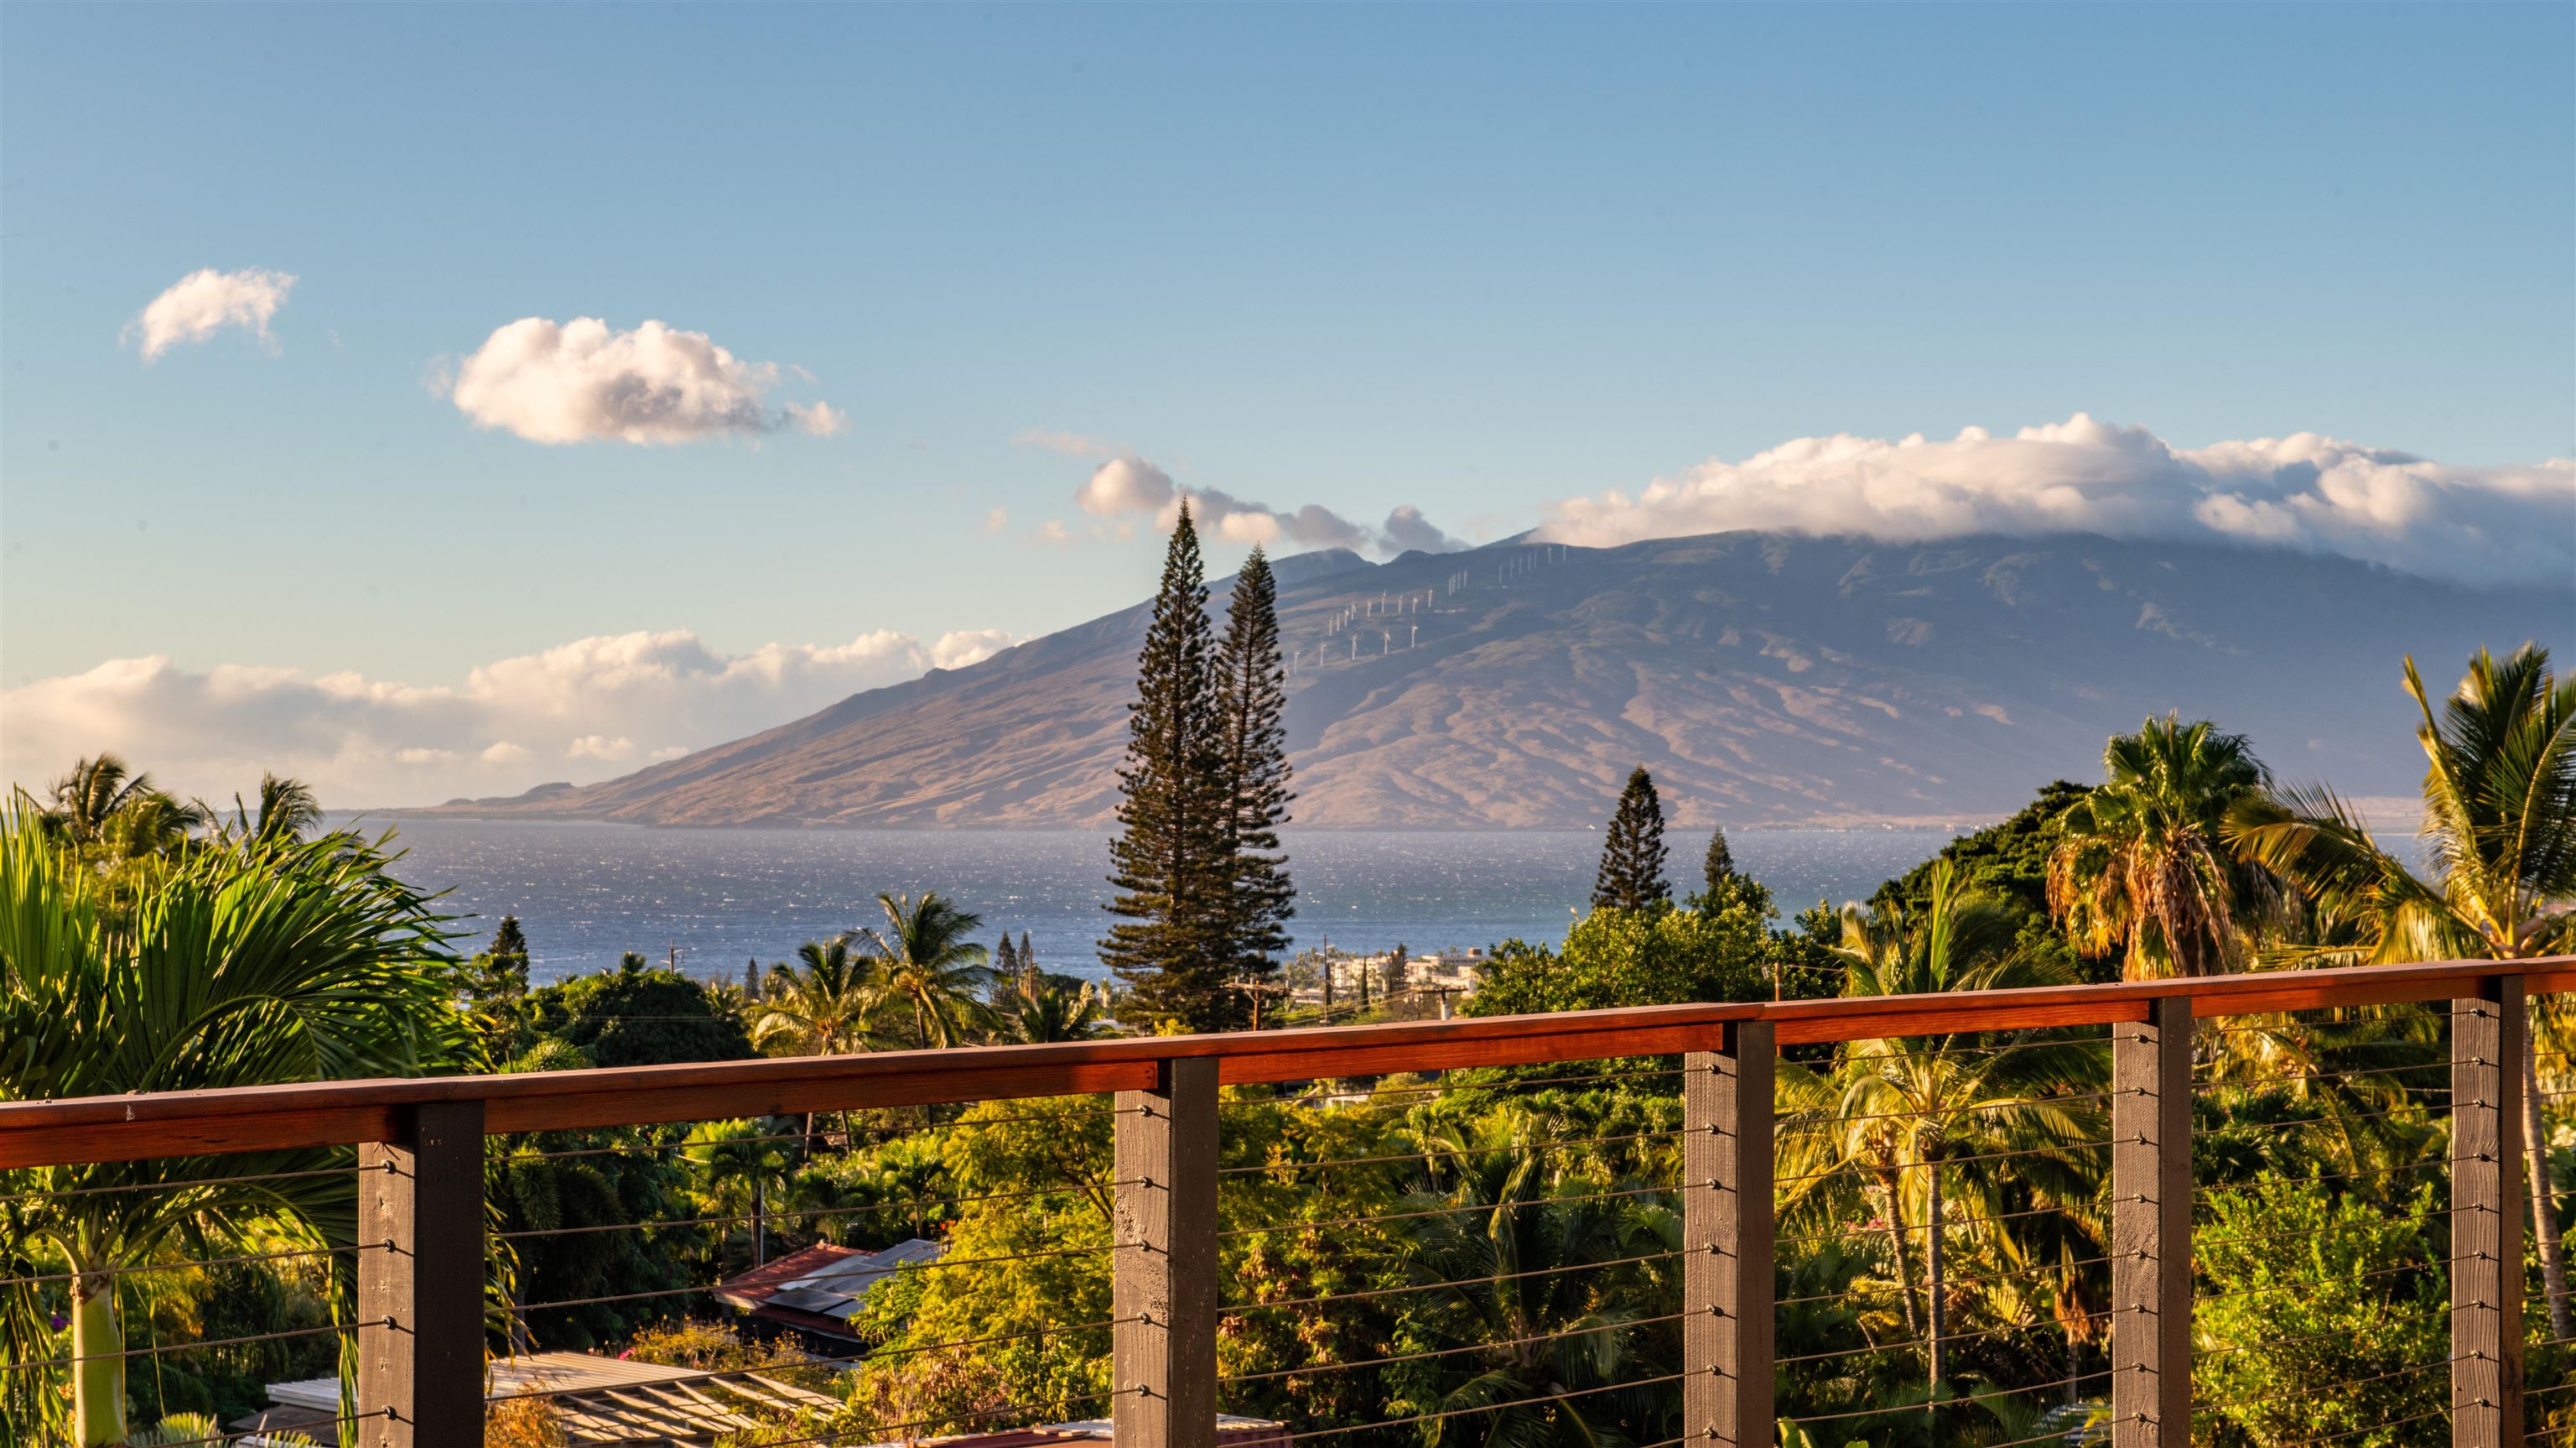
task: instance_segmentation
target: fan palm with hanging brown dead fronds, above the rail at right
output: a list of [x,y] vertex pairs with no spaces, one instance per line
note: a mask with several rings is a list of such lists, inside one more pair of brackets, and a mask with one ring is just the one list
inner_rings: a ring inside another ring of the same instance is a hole
[[2269,783],[2244,734],[2208,719],[2166,714],[2112,734],[2102,783],[2066,812],[2066,843],[2048,858],[2048,912],[2087,956],[2128,946],[2128,979],[2231,969],[2239,917],[2272,889],[2221,850],[2218,830]]

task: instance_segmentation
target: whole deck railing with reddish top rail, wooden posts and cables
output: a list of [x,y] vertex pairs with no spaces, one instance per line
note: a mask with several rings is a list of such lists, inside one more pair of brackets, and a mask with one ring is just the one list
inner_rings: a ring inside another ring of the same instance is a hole
[[[884,1108],[935,1108],[956,1103],[1084,1098],[1108,1095],[1095,1113],[1110,1118],[1113,1170],[1092,1183],[1108,1198],[1113,1221],[1105,1247],[1110,1257],[1110,1304],[1100,1322],[1056,1324],[1061,1332],[1092,1332],[1105,1340],[1108,1391],[1092,1399],[1015,1404],[1028,1422],[1100,1415],[1113,1422],[1118,1448],[1213,1448],[1218,1412],[1247,1378],[1280,1373],[1221,1376],[1218,1332],[1229,1319],[1275,1309],[1332,1311],[1345,1299],[1401,1291],[1430,1291],[1453,1283],[1316,1293],[1309,1299],[1226,1301],[1221,1250],[1229,1239],[1265,1232],[1332,1232],[1342,1226],[1386,1224],[1376,1214],[1340,1221],[1329,1203],[1278,1224],[1226,1226],[1221,1203],[1226,1188],[1249,1180],[1309,1183],[1319,1167],[1350,1167],[1347,1159],[1273,1162],[1226,1167],[1229,1103],[1224,1087],[1352,1082],[1334,1090],[1365,1092],[1363,1082],[1401,1074],[1437,1082],[1445,1072],[1497,1067],[1564,1067],[1522,1077],[1522,1087],[1587,1080],[1582,1062],[1628,1062],[1625,1072],[1674,1077],[1674,1118],[1667,1126],[1636,1131],[1672,1147],[1674,1180],[1654,1183],[1662,1201],[1680,1214],[1680,1250],[1656,1252],[1680,1283],[1680,1309],[1669,1314],[1680,1358],[1667,1373],[1589,1389],[1566,1389],[1571,1399],[1587,1391],[1662,1394],[1674,1407],[1677,1430],[1667,1443],[1713,1448],[1772,1445],[1783,1422],[1795,1422],[1811,1440],[1842,1443],[1837,1433],[1886,1422],[1888,1409],[1783,1417],[1775,1404],[1775,1373],[1785,1366],[1775,1348],[1775,1322],[1783,1309],[1811,1306],[1816,1299],[1780,1299],[1775,1288],[1777,1203],[1793,1201],[1806,1172],[1783,1172],[1777,1157],[1783,1100],[1775,1072],[1798,1069],[1824,1049],[1855,1049],[1901,1056],[1904,1041],[1940,1038],[1927,1054],[1999,1051],[2094,1051],[2099,1087],[2053,1098],[2066,1121],[2102,1129],[2102,1136],[2058,1141],[2061,1157],[2094,1149],[2107,1157],[2107,1219],[2099,1255],[2063,1257],[2012,1268],[2032,1291],[2071,1286],[2071,1275],[2107,1270],[2110,1296],[2099,1306],[2063,1319],[2069,1332],[2066,1396],[2107,1396],[2107,1420],[2092,1427],[2053,1425],[2027,1443],[2110,1443],[2115,1448],[2184,1448],[2192,1443],[2195,1412],[2239,1412],[2239,1404],[2195,1396],[2195,1353],[2210,1360],[2210,1376],[2233,1353],[2287,1353],[2287,1342],[2208,1342],[2195,1332],[2195,1306],[2221,1306],[2195,1291],[2195,1219],[2236,1219],[2221,1198],[2244,1190],[2241,1183],[2195,1183],[2192,1126],[2195,1092],[2213,1082],[2195,1080],[2195,1033],[2205,1041],[2223,1031],[2282,1031],[2282,1020],[2326,1015],[2352,1020],[2372,1010],[2411,1013],[2434,1031],[2447,1056],[2388,1067],[2372,1082],[2383,1100],[2429,1103],[2447,1095],[2439,1110],[2450,1116],[2447,1152],[2411,1167],[2447,1167],[2439,1216],[2447,1232],[2447,1355],[2409,1363],[2401,1373],[2421,1378],[2421,1404],[2391,1443],[2432,1443],[2447,1425],[2458,1445],[2501,1448],[2524,1443],[2543,1422],[2537,1399],[2576,1389],[2576,1381],[2524,1384],[2527,1348],[2566,1348],[2561,1340],[2532,1337],[2524,1327],[2530,1208],[2524,1110],[2537,1118],[2540,1100],[2527,1100],[2522,1069],[2532,1031],[2530,1000],[2576,989],[2576,958],[2543,961],[2455,961],[2429,966],[2370,966],[2326,971],[2241,974],[2218,979],[2177,979],[2141,984],[2007,989],[1984,995],[1927,997],[1839,997],[1790,1002],[1669,1005],[1638,1010],[1589,1010],[1528,1018],[1458,1018],[1399,1025],[1345,1025],[1309,1031],[1267,1031],[1236,1036],[1162,1036],[1059,1046],[981,1046],[956,1051],[894,1051],[858,1056],[801,1056],[724,1064],[675,1064],[636,1069],[533,1072],[497,1077],[428,1077],[276,1085],[219,1092],[129,1095],[90,1100],[0,1103],[0,1170],[67,1167],[90,1162],[157,1159],[185,1167],[185,1159],[258,1152],[299,1152],[312,1147],[358,1149],[358,1232],[355,1299],[348,1324],[355,1342],[355,1417],[361,1438],[386,1448],[453,1448],[479,1443],[487,1412],[487,1234],[484,1152],[489,1136],[538,1131],[587,1131],[616,1126],[783,1118],[804,1113],[845,1113]],[[2419,1036],[2427,1041],[2432,1036]],[[2202,1064],[2215,1054],[2202,1046]],[[1638,1067],[1638,1059],[1646,1067]],[[1783,1059],[1790,1067],[1783,1067]],[[2074,1059],[2074,1056],[2069,1056]],[[2254,1056],[2257,1062],[2262,1056]],[[2372,1067],[2316,1069],[2316,1062],[2285,1059],[2275,1085],[2300,1095],[2318,1082],[2352,1085],[2372,1077]],[[2231,1067],[2231,1069],[2244,1069]],[[2432,1074],[2427,1074],[2432,1072]],[[2437,1080],[2447,1077],[2447,1080]],[[2553,1077],[2555,1080],[2555,1077]],[[2244,1085],[2244,1082],[2236,1082]],[[1440,1085],[1406,1087],[1440,1092]],[[2391,1095],[2393,1092],[2393,1095]],[[1329,1092],[1327,1092],[1329,1095]],[[2553,1092],[2545,1092],[2553,1095]],[[2342,1098],[2339,1098],[2342,1100]],[[2334,1110],[2349,1116],[2349,1100]],[[1814,1105],[1798,1108],[1814,1116]],[[1842,1110],[1852,1123],[1850,1108]],[[1888,1110],[1911,1116],[1914,1110]],[[2285,1126],[2295,1126],[2290,1121]],[[1896,1126],[1904,1129],[1901,1123]],[[2071,1129],[2069,1129],[2071,1131]],[[2045,1154],[2048,1149],[2030,1149]],[[580,1152],[567,1152],[580,1154]],[[1406,1159],[1432,1159],[1422,1152]],[[1370,1157],[1376,1162],[1378,1157]],[[1968,1162],[1973,1154],[1953,1154]],[[1891,1172],[1904,1170],[1893,1165]],[[1945,1252],[1942,1162],[1929,1165],[1935,1216],[1929,1224],[1888,1221],[1826,1224],[1806,1237],[1842,1232],[1870,1239],[1893,1234],[1893,1252],[1919,1250],[1927,1262]],[[1298,1172],[1314,1172],[1301,1177]],[[2367,1175],[2360,1162],[2349,1175]],[[152,1188],[185,1188],[185,1170],[162,1172]],[[1036,1183],[1033,1183],[1036,1185]],[[1291,1190],[1306,1190],[1293,1185]],[[1321,1193],[1321,1185],[1311,1190]],[[1896,1188],[1891,1188],[1896,1190]],[[1602,1196],[1620,1196],[1618,1190]],[[1466,1211],[1466,1208],[1455,1208]],[[1481,1208],[1479,1208],[1481,1211]],[[1973,1226],[1973,1216],[1958,1219]],[[652,1224],[636,1224],[652,1226]],[[1922,1239],[1909,1244],[1906,1234]],[[544,1252],[544,1232],[513,1242],[523,1255]],[[2218,1247],[2244,1247],[2246,1237],[2221,1237]],[[1066,1247],[1064,1252],[1077,1252]],[[1046,1252],[1030,1252],[1046,1255]],[[1641,1255],[1643,1262],[1649,1255]],[[974,1262],[943,1262],[948,1270]],[[1595,1265],[1597,1268],[1597,1265]],[[1551,1268],[1561,1270],[1561,1268]],[[1535,1275],[1535,1273],[1533,1273]],[[2295,1291],[2298,1283],[2251,1291]],[[657,1293],[634,1293],[657,1296]],[[1850,1293],[1824,1293],[1850,1296]],[[569,1306],[569,1304],[533,1304]],[[1914,1304],[1906,1299],[1906,1314]],[[1971,1350],[1973,1342],[1945,1327],[1945,1301],[1935,1293],[1927,1322],[1914,1340],[1860,1342],[1811,1358],[1868,1360],[1886,1353]],[[1633,1324],[1631,1324],[1633,1327]],[[1551,1337],[1569,1335],[1556,1332]],[[2094,1342],[2079,1358],[2074,1342]],[[1417,1353],[1414,1358],[1437,1358]],[[1406,1360],[1388,1350],[1376,1360],[1321,1363],[1314,1373],[1368,1368]],[[2084,1360],[2097,1363],[2084,1371]],[[62,1371],[70,1360],[21,1363],[15,1371]],[[1283,1368],[1285,1371],[1296,1371]],[[708,1373],[721,1378],[721,1373]],[[1942,1381],[1940,1368],[1932,1384]],[[1548,1399],[1553,1402],[1553,1399]],[[2566,1402],[2566,1399],[2558,1399]],[[1520,1404],[1476,1404],[1455,1412],[1396,1415],[1309,1427],[1291,1422],[1291,1443],[1334,1438],[1360,1430],[1414,1430],[1427,1417],[1497,1412]],[[891,1425],[899,1435],[917,1430],[953,1433],[961,1427],[1023,1427],[997,1415],[969,1415],[979,1422],[938,1420]],[[2372,1425],[2365,1425],[2372,1427]],[[1832,1435],[1832,1438],[1829,1438]],[[2370,1435],[2321,1433],[2313,1440],[2372,1440]]]

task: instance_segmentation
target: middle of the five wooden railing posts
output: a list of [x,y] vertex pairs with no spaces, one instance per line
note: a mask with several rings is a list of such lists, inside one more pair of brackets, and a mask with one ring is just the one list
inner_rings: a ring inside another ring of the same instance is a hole
[[1772,1443],[1772,1025],[1682,1056],[1682,1435]]

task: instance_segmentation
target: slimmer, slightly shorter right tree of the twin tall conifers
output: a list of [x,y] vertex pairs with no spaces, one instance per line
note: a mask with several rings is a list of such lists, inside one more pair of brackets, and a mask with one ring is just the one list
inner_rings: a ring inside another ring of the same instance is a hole
[[1236,995],[1236,1015],[1244,1015],[1278,976],[1285,922],[1296,915],[1296,886],[1280,853],[1280,824],[1296,799],[1288,794],[1288,729],[1280,724],[1288,672],[1280,667],[1278,580],[1260,549],[1234,575],[1216,675],[1226,770],[1226,953],[1236,979],[1255,987]]

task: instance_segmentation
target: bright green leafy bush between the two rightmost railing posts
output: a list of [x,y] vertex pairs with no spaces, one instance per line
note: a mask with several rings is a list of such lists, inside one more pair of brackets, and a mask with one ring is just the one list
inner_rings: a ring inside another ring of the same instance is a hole
[[[2282,1177],[2210,1193],[2210,1221],[2192,1234],[2192,1384],[2233,1430],[2221,1440],[2396,1448],[2447,1435],[2411,1422],[2447,1391],[2439,1216],[2429,1185],[2401,1211]],[[2251,1350],[2228,1350],[2239,1345]]]

